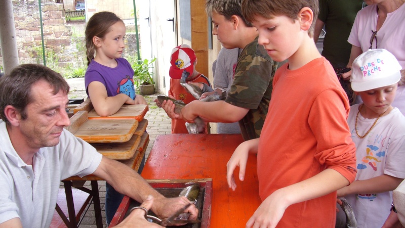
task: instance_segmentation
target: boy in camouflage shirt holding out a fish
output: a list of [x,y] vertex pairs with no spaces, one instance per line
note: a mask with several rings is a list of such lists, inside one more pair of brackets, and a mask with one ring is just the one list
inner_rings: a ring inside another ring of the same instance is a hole
[[162,108],[171,118],[187,122],[199,116],[206,122],[231,123],[239,121],[244,140],[259,138],[266,118],[272,92],[274,62],[262,45],[258,33],[241,14],[241,0],[208,0],[206,12],[212,17],[214,35],[224,48],[241,48],[231,89],[225,101],[193,101],[181,114],[174,113],[174,104],[167,102]]

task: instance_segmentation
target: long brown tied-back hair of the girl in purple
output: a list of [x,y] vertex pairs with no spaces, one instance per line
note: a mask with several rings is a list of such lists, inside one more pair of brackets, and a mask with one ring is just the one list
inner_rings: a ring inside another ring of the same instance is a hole
[[89,19],[85,31],[87,65],[89,65],[94,59],[94,54],[96,52],[93,37],[97,36],[99,38],[103,38],[105,34],[109,32],[111,25],[118,21],[124,23],[124,21],[114,13],[106,11],[96,13]]

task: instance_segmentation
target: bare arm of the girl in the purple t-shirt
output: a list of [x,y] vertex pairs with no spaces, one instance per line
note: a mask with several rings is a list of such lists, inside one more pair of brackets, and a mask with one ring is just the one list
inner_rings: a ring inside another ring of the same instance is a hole
[[135,101],[126,94],[108,97],[105,86],[99,81],[91,82],[88,91],[93,107],[99,116],[110,116],[116,113],[123,104],[135,104]]

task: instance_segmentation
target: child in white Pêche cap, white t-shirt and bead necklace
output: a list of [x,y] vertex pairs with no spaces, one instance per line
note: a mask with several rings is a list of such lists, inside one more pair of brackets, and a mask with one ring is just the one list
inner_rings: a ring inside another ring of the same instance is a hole
[[392,191],[405,178],[405,117],[392,102],[401,66],[385,49],[368,50],[352,65],[350,78],[362,103],[347,119],[356,145],[355,181],[338,190],[352,206],[358,227],[382,227]]

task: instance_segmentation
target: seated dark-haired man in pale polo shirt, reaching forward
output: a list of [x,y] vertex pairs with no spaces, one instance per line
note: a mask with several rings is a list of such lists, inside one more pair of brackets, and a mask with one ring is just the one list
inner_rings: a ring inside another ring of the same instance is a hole
[[[60,180],[74,175],[93,173],[160,218],[189,203],[163,197],[137,172],[65,130],[68,93],[59,73],[38,64],[20,65],[0,79],[0,227],[49,227]],[[186,212],[197,216],[194,206]],[[144,215],[133,210],[121,225],[149,227]]]

